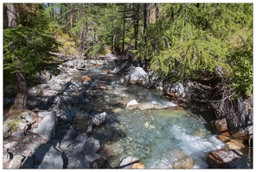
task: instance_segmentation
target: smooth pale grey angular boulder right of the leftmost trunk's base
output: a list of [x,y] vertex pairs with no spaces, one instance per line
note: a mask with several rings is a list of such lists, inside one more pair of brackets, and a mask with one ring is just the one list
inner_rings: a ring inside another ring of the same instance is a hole
[[56,113],[44,112],[43,116],[45,117],[42,119],[38,127],[33,129],[33,132],[38,133],[42,138],[54,138],[54,130],[56,126]]

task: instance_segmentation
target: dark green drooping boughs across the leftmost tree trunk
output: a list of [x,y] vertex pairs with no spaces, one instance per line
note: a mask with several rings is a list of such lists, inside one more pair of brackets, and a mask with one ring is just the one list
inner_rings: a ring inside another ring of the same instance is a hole
[[[15,50],[12,51],[12,46]],[[35,74],[52,71],[56,68],[54,55],[59,44],[48,35],[27,27],[7,28],[3,30],[3,70],[10,74],[17,71]],[[17,64],[15,58],[21,60]]]

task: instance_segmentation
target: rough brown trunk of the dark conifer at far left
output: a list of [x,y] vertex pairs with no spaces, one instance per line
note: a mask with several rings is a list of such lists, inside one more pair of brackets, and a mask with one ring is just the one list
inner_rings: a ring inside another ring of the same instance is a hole
[[[16,28],[17,27],[17,18],[16,18],[16,8],[14,3],[7,4],[7,16],[8,16],[8,27]],[[15,51],[16,45],[10,42],[11,50]],[[15,57],[14,61],[17,63],[18,67],[22,65],[22,62],[19,58]],[[28,97],[28,88],[26,82],[26,76],[22,71],[16,72],[17,79],[17,89],[18,92],[16,94],[16,98],[14,101],[14,109],[22,110],[27,107],[27,97]]]

